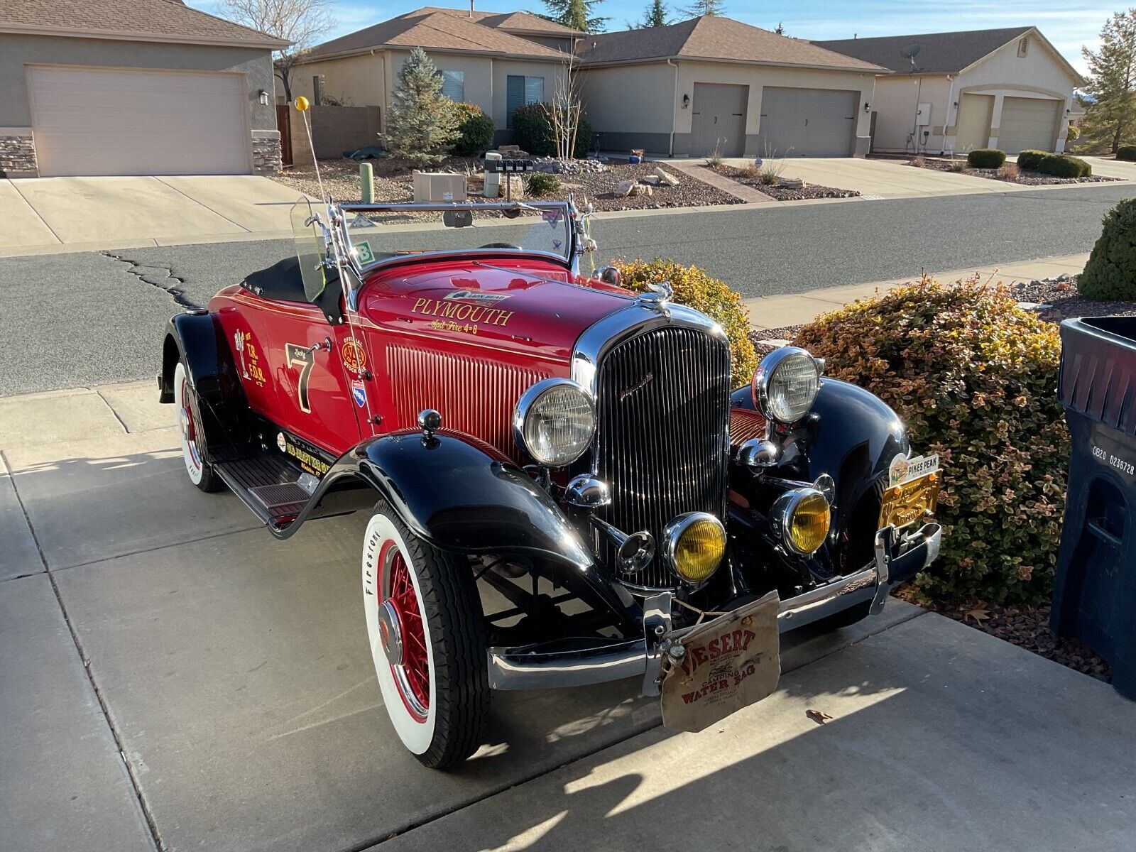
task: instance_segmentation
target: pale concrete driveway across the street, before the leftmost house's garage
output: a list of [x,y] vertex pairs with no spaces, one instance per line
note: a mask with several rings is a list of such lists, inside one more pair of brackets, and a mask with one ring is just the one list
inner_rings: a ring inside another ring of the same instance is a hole
[[0,179],[0,257],[287,236],[298,197],[254,175]]

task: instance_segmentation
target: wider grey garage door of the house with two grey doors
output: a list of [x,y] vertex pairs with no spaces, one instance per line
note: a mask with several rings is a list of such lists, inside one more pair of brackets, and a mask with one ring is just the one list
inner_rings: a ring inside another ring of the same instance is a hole
[[851,157],[860,92],[775,89],[761,93],[762,157]]

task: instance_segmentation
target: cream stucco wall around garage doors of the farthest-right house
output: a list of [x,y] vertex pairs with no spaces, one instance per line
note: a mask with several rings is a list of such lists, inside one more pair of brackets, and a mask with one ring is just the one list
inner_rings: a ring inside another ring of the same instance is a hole
[[[919,81],[922,81],[921,93]],[[916,103],[932,105],[932,123],[928,130],[927,151],[938,153],[954,144],[954,125],[958,108],[954,106],[962,94],[994,95],[994,112],[987,144],[997,147],[997,130],[1005,98],[1041,98],[1061,100],[1062,114],[1072,103],[1076,81],[1052,51],[1036,36],[1030,36],[1025,57],[1018,56],[1018,40],[1010,42],[970,70],[959,74],[952,87],[945,76],[896,75],[880,78],[876,84],[876,100],[872,109],[879,112],[876,119],[874,150],[905,151],[907,134],[914,125]],[[1059,122],[1056,150],[1063,150],[1068,123]]]

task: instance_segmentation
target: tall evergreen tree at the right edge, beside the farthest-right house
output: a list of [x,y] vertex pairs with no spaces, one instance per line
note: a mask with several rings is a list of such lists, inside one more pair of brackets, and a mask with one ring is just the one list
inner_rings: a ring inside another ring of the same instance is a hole
[[1094,101],[1081,130],[1116,153],[1136,126],[1136,9],[1116,12],[1101,30],[1101,49],[1081,48],[1081,55],[1088,62],[1085,93]]

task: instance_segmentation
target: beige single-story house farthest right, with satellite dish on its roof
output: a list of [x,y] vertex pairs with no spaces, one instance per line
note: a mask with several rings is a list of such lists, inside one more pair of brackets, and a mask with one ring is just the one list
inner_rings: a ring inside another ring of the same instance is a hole
[[874,151],[1062,151],[1085,82],[1033,26],[813,43],[893,72],[876,81]]

